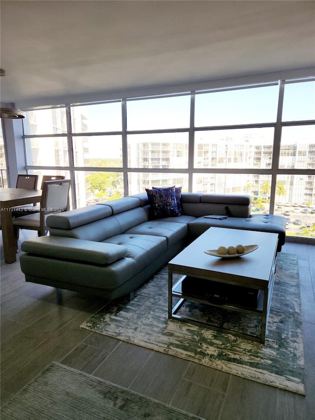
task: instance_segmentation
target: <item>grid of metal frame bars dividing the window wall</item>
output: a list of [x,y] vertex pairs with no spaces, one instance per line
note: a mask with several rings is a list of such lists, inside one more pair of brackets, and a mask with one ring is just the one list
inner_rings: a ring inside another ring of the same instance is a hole
[[[72,193],[73,193],[73,203],[74,207],[76,207],[76,196],[75,196],[75,173],[77,171],[104,171],[104,172],[121,172],[124,179],[124,195],[129,194],[129,186],[128,186],[128,175],[132,172],[135,173],[164,173],[165,170],[172,174],[181,173],[183,175],[188,176],[188,191],[192,191],[193,176],[197,175],[198,173],[203,174],[215,174],[215,173],[226,173],[226,174],[259,174],[259,175],[269,175],[271,176],[271,192],[270,192],[270,212],[273,213],[273,209],[275,208],[275,198],[276,198],[276,182],[277,176],[279,175],[313,175],[315,172],[313,169],[296,169],[296,168],[280,168],[279,167],[279,160],[280,160],[280,147],[281,147],[281,133],[283,127],[290,127],[290,126],[301,126],[301,125],[315,125],[315,120],[303,120],[303,121],[282,121],[282,110],[283,110],[283,103],[284,103],[284,89],[285,85],[288,83],[303,83],[315,80],[315,78],[300,78],[300,79],[288,79],[288,80],[274,80],[268,83],[252,83],[248,85],[235,85],[235,86],[228,86],[228,87],[219,87],[214,89],[203,89],[203,90],[189,90],[183,91],[181,93],[170,93],[167,95],[150,95],[145,97],[123,97],[115,100],[110,101],[100,101],[97,103],[108,103],[108,102],[120,102],[121,103],[121,118],[122,118],[122,130],[121,131],[108,131],[108,132],[72,132],[71,130],[71,108],[74,106],[81,106],[81,105],[90,105],[95,103],[80,103],[80,104],[65,104],[59,106],[52,106],[46,108],[60,108],[64,107],[66,110],[66,137],[68,142],[68,166],[35,166],[35,165],[26,165],[27,171],[34,170],[34,169],[42,169],[42,170],[51,170],[51,169],[61,169],[61,170],[69,170],[70,177],[72,180]],[[209,127],[194,127],[194,116],[195,116],[195,97],[196,95],[200,95],[203,93],[210,93],[210,92],[222,92],[222,91],[231,91],[231,90],[242,90],[242,89],[250,89],[253,87],[264,87],[264,86],[271,86],[277,85],[279,89],[279,97],[278,97],[278,105],[277,105],[277,119],[275,122],[270,123],[261,123],[261,124],[240,124],[240,125],[229,125],[229,126],[209,126]],[[190,96],[190,120],[189,120],[189,127],[179,128],[179,129],[144,129],[144,130],[127,130],[126,121],[127,121],[127,109],[126,104],[128,101],[132,100],[141,100],[141,99],[149,99],[149,98],[165,98],[165,97],[180,97],[180,96]],[[34,108],[32,108],[34,109]],[[29,110],[32,110],[29,109]],[[37,108],[38,109],[38,108]],[[216,168],[216,167],[207,167],[207,168],[195,168],[194,167],[194,134],[198,131],[210,131],[210,130],[226,130],[226,129],[251,129],[251,128],[265,128],[265,127],[272,127],[274,129],[274,139],[273,139],[273,153],[272,153],[272,162],[271,167],[269,168]],[[187,132],[189,136],[189,151],[188,151],[188,167],[187,168],[171,168],[165,169],[161,168],[145,168],[145,167],[128,167],[128,156],[127,156],[127,135],[131,134],[158,134],[158,133],[173,133],[173,132]],[[122,167],[91,167],[91,166],[75,166],[74,165],[74,158],[73,158],[73,145],[72,145],[72,138],[78,136],[97,136],[97,135],[116,135],[120,134],[122,136],[122,156],[123,156],[123,166]],[[34,134],[25,134],[23,135],[23,140],[27,138],[35,138],[35,137],[58,137],[64,136],[64,134],[41,134],[41,135],[34,135]]]

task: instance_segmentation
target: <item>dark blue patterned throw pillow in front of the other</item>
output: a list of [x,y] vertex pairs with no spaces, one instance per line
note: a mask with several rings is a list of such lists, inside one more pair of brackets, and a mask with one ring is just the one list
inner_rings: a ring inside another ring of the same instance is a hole
[[158,188],[156,190],[146,188],[146,192],[154,218],[180,216],[176,202],[175,187]]

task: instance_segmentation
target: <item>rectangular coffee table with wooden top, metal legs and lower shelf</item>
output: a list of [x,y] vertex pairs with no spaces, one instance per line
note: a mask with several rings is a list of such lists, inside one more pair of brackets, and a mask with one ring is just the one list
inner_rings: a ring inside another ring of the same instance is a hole
[[[168,318],[220,329],[233,335],[264,343],[274,286],[277,243],[277,233],[221,227],[208,229],[168,263]],[[213,257],[204,253],[205,250],[218,249],[219,246],[228,247],[237,244],[258,245],[258,249],[250,254],[232,259]],[[182,277],[173,285],[174,273],[181,274]],[[196,281],[206,279],[210,282],[215,281],[226,285],[258,290],[261,296],[261,304],[257,308],[230,303],[218,304],[209,302],[205,298],[186,295],[182,292],[181,285],[187,276],[195,278]],[[177,298],[178,302],[173,306],[174,298]],[[188,300],[258,316],[261,318],[260,334],[253,335],[233,331],[178,315],[177,312]]]

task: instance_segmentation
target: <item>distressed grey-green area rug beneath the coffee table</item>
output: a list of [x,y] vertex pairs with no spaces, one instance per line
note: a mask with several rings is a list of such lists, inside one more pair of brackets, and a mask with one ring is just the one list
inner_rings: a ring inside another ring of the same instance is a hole
[[[264,344],[167,318],[167,268],[134,292],[130,302],[107,305],[81,327],[222,372],[305,395],[304,343],[296,256],[280,253]],[[203,320],[253,332],[257,317],[186,303]]]

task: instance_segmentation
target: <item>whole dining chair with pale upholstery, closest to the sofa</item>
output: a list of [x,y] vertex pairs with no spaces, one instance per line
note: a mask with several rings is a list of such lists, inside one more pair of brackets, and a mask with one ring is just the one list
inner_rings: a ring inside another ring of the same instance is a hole
[[48,231],[48,226],[46,226],[47,216],[69,210],[69,189],[69,179],[44,181],[40,211],[13,219],[15,238],[18,239],[19,237],[19,229],[37,230],[38,236],[46,235]]

